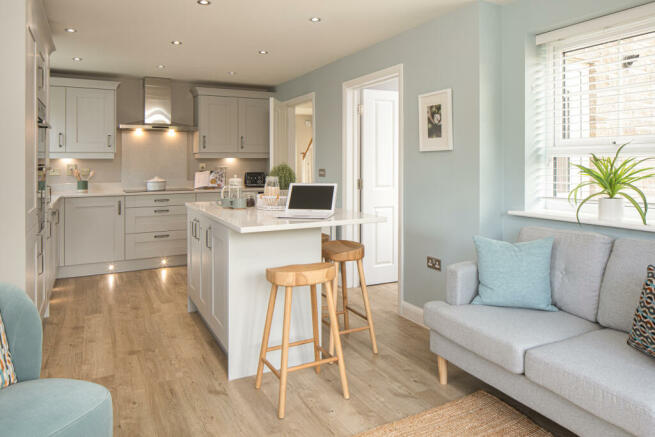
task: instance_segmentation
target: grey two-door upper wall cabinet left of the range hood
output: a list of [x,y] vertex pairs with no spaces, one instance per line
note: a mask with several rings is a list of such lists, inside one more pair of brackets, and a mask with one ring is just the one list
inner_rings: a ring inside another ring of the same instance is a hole
[[118,85],[50,80],[50,158],[114,159]]

